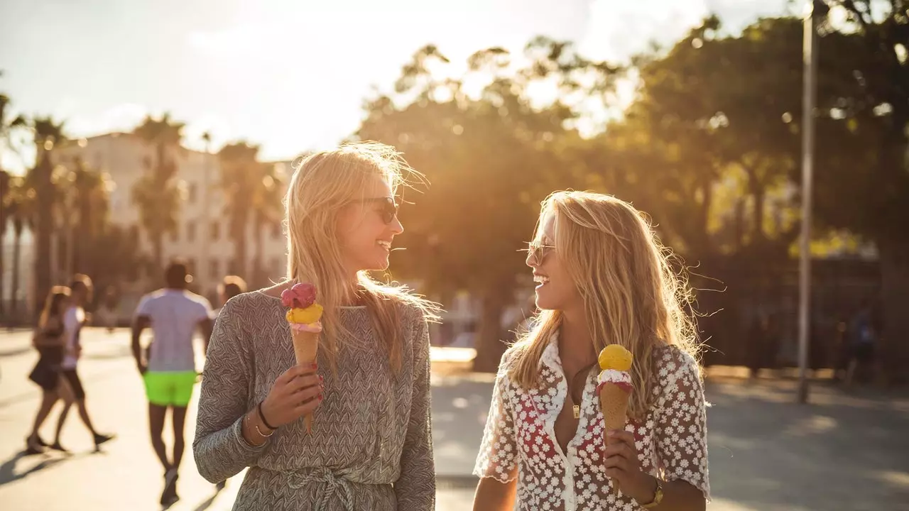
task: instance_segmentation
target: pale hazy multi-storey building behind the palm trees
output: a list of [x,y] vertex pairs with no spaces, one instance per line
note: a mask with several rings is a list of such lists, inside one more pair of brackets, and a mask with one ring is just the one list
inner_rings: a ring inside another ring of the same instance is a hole
[[[110,194],[110,222],[133,230],[138,235],[139,250],[152,254],[151,244],[143,229],[138,207],[133,202],[133,187],[155,164],[155,146],[132,134],[107,134],[72,141],[54,150],[55,164],[71,165],[81,157],[86,165],[106,172],[115,183]],[[234,261],[234,243],[228,237],[225,197],[221,186],[221,165],[216,154],[178,147],[171,157],[177,165],[176,178],[184,189],[184,201],[177,215],[177,229],[165,235],[164,260],[183,257],[188,261],[195,286],[205,296],[214,297],[215,289],[225,275],[239,275],[248,280],[252,274],[258,236],[252,226],[247,232],[246,266]],[[276,163],[278,171],[289,176],[289,165]],[[268,278],[285,276],[286,241],[281,222],[264,236],[263,262]],[[132,287],[136,292],[159,285],[162,276],[145,276]]]

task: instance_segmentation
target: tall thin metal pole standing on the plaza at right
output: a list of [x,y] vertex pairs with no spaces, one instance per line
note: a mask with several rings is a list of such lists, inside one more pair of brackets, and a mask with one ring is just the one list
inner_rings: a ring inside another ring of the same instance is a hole
[[802,239],[799,246],[798,402],[808,402],[808,343],[811,336],[811,198],[814,173],[814,104],[817,100],[817,23],[824,6],[812,2],[804,18],[802,61]]

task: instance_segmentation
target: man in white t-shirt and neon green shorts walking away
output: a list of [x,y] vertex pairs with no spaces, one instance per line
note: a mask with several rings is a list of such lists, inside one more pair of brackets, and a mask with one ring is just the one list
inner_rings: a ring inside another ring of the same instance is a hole
[[[212,308],[208,300],[186,290],[192,282],[186,265],[175,261],[165,270],[166,287],[143,296],[133,320],[133,356],[145,381],[148,397],[148,422],[152,446],[165,468],[165,489],[161,504],[170,506],[179,500],[176,494],[177,469],[183,459],[184,420],[195,386],[195,351],[193,336],[201,329],[208,347],[212,335]],[[145,328],[154,335],[146,353],[142,352],[140,337]],[[174,426],[174,452],[168,459],[164,438],[165,414],[171,408]]]

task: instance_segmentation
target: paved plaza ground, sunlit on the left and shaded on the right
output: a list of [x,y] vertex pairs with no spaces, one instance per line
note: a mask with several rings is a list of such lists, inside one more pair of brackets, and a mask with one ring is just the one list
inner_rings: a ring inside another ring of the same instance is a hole
[[[161,469],[148,441],[142,382],[128,333],[87,329],[80,366],[89,412],[117,438],[93,453],[73,411],[63,443],[74,454],[23,456],[39,393],[26,379],[35,363],[27,332],[0,332],[0,508],[158,510]],[[439,511],[470,509],[470,473],[483,435],[492,380],[451,371],[464,351],[435,349],[433,436]],[[714,511],[909,511],[909,393],[812,386],[811,404],[795,405],[794,381],[712,377],[707,384],[708,443]],[[55,414],[43,436],[53,436]],[[195,403],[186,439],[195,430]],[[169,438],[165,436],[165,441]],[[215,491],[195,470],[187,445],[174,511],[228,510],[242,480]]]

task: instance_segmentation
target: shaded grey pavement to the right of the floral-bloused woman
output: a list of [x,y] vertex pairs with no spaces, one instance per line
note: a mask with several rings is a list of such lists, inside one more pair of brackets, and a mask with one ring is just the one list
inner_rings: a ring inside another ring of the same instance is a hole
[[897,509],[909,501],[909,402],[794,383],[708,384],[714,496],[761,510]]

